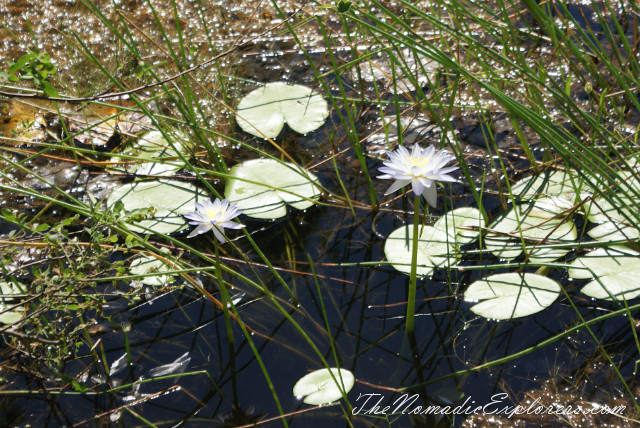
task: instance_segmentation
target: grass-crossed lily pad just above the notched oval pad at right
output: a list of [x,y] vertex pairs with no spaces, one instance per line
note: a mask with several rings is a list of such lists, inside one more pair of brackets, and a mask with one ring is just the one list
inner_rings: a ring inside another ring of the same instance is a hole
[[[543,205],[530,205],[511,209],[506,215],[494,222],[489,229],[499,233],[487,233],[486,247],[496,257],[511,260],[522,253],[522,238],[531,251],[529,261],[547,263],[569,252],[567,248],[545,248],[553,244],[567,244],[576,239],[577,232],[573,222],[556,215]],[[531,247],[539,245],[533,250]]]

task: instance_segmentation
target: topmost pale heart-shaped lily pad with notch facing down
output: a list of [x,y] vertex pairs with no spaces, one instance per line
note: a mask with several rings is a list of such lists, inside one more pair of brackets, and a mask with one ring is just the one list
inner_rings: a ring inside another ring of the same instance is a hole
[[329,116],[322,96],[302,85],[267,83],[249,92],[238,104],[236,120],[243,131],[262,138],[275,138],[285,122],[307,134],[320,128]]

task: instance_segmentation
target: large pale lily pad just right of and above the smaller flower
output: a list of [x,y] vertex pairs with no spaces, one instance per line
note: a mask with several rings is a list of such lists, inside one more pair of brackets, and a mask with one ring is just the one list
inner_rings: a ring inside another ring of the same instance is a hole
[[281,218],[287,204],[304,210],[320,197],[318,177],[287,162],[253,159],[235,165],[229,174],[225,197],[249,217]]

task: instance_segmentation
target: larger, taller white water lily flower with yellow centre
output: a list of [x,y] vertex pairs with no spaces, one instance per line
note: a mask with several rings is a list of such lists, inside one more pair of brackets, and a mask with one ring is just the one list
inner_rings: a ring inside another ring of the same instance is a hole
[[411,183],[416,195],[425,197],[429,205],[435,208],[438,201],[436,181],[456,181],[449,174],[458,169],[457,166],[443,168],[455,156],[446,150],[437,151],[433,145],[423,149],[419,144],[414,144],[411,152],[403,146],[393,152],[387,152],[388,161],[378,171],[383,172],[378,178],[395,179],[395,183],[389,187],[385,195]]

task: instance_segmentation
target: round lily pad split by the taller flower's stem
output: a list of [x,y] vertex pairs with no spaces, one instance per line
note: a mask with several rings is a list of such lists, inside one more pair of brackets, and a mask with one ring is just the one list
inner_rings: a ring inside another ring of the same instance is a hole
[[[445,263],[456,263],[453,237],[431,226],[420,226],[419,233],[416,270],[419,276],[431,275],[435,267]],[[412,242],[413,225],[409,224],[391,232],[384,243],[384,255],[402,273],[411,273]]]

